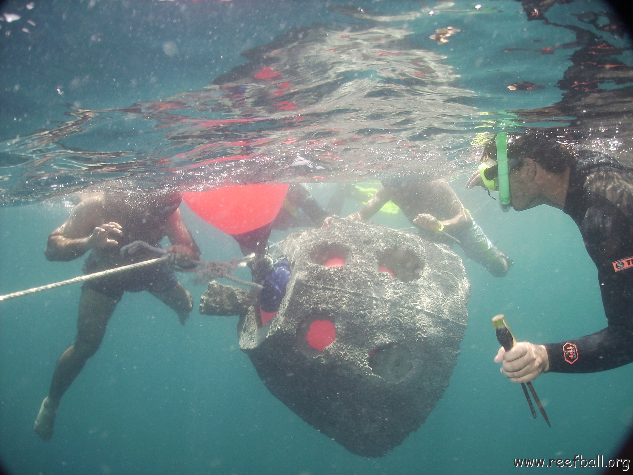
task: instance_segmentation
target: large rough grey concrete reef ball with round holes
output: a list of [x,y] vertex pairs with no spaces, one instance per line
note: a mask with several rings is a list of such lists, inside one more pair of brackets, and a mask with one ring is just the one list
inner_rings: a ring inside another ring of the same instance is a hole
[[[348,220],[280,246],[291,278],[270,322],[261,326],[254,294],[223,295],[216,307],[227,301],[241,315],[240,347],[273,395],[350,452],[385,455],[448,386],[468,318],[461,259],[415,234]],[[218,293],[203,296],[201,313],[227,314],[203,312]]]

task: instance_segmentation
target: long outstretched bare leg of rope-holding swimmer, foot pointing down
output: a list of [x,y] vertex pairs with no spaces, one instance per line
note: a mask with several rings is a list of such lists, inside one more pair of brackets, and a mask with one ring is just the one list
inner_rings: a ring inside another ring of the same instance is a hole
[[53,436],[55,415],[61,396],[70,388],[75,378],[101,345],[108,320],[115,311],[118,299],[103,295],[89,288],[82,288],[77,319],[77,338],[60,356],[53,373],[51,388],[35,419],[33,430],[49,441]]

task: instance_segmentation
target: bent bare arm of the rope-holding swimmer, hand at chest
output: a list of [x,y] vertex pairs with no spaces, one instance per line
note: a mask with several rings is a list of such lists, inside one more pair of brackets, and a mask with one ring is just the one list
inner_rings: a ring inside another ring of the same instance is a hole
[[69,261],[94,248],[118,244],[112,237],[121,235],[115,222],[101,224],[104,219],[103,198],[96,196],[82,201],[70,217],[51,232],[44,255],[51,261]]

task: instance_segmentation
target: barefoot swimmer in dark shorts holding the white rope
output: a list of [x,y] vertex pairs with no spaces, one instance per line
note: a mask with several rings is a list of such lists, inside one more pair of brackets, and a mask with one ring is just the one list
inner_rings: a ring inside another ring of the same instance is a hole
[[[191,260],[198,260],[200,251],[180,218],[179,205],[177,194],[89,196],[51,233],[46,258],[69,261],[91,251],[84,265],[84,272],[91,274],[156,257],[145,248],[139,248],[132,256],[121,255],[120,250],[137,240],[158,247],[167,236],[172,243],[168,249],[170,262],[182,268],[194,267]],[[172,308],[180,323],[185,324],[193,307],[191,294],[166,263],[85,282],[79,300],[75,343],[60,356],[49,395],[35,420],[34,431],[43,440],[53,436],[61,396],[101,345],[108,320],[123,293],[143,290]]]

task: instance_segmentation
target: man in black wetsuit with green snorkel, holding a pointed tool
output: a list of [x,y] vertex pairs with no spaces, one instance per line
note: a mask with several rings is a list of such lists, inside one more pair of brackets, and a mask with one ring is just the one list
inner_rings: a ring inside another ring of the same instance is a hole
[[[605,371],[633,362],[633,169],[601,153],[573,153],[547,133],[508,137],[511,206],[546,204],[572,217],[598,267],[608,326],[559,343],[522,341],[509,352],[501,348],[495,361],[516,383],[541,372]],[[496,159],[491,143],[483,160]],[[467,187],[483,183],[477,172]]]

